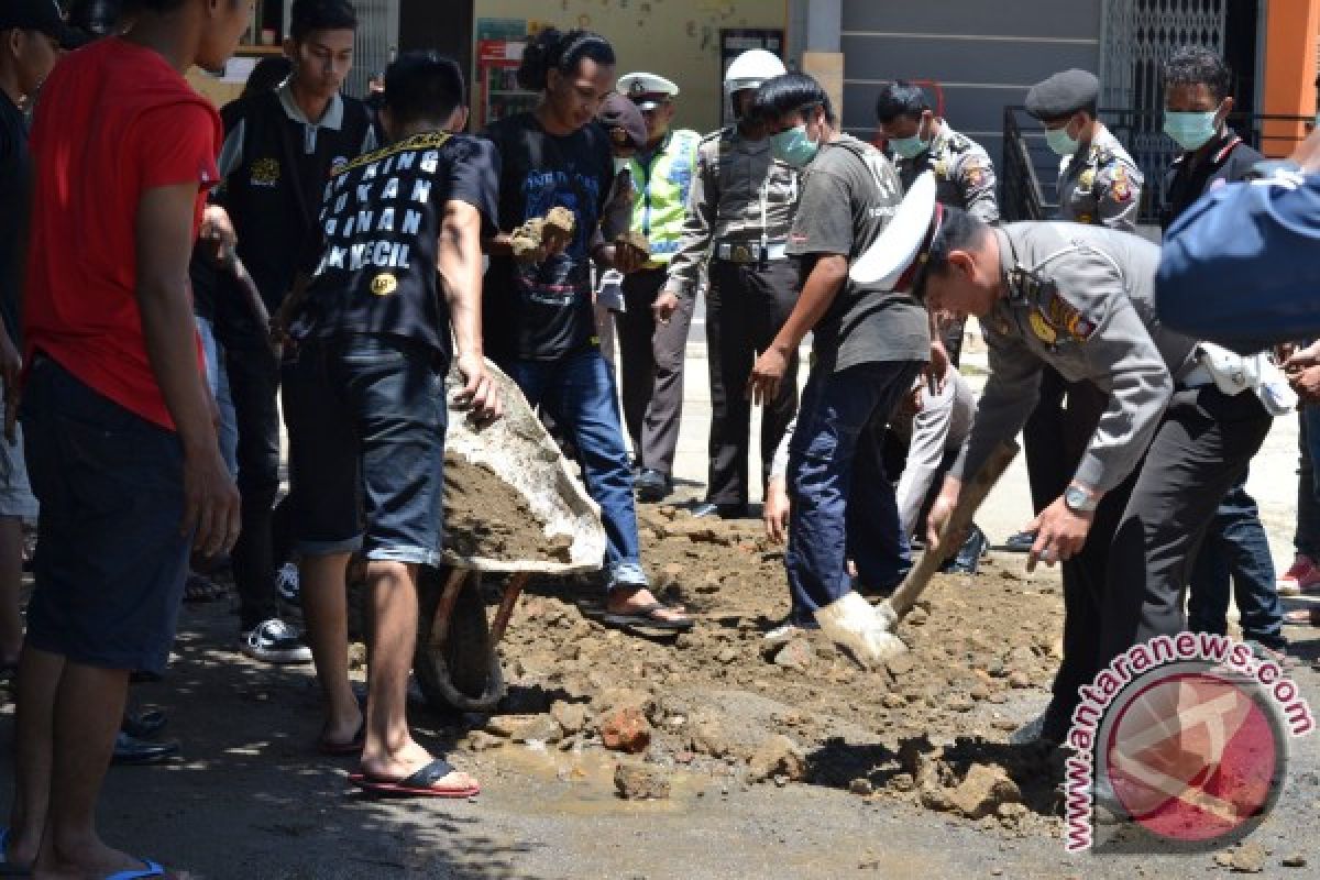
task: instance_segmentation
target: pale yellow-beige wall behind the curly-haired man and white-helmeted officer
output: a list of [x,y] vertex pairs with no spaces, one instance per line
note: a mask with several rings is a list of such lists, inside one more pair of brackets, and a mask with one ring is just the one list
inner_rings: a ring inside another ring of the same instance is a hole
[[[531,28],[587,28],[614,44],[618,71],[678,83],[675,124],[718,128],[721,28],[785,28],[785,0],[475,0],[475,18],[519,18]],[[475,32],[474,32],[475,33]]]

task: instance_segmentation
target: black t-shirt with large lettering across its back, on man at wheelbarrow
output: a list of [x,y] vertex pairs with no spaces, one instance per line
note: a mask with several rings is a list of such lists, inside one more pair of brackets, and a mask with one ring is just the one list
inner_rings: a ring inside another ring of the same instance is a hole
[[321,257],[294,338],[388,334],[450,354],[437,281],[447,202],[494,230],[499,158],[487,141],[447,132],[409,137],[338,169],[325,186]]

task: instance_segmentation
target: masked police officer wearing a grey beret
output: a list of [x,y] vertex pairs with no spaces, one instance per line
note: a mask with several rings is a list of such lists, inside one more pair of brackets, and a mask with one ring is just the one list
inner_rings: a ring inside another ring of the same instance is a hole
[[[1123,145],[1096,119],[1098,99],[1100,80],[1094,74],[1065,70],[1031,87],[1027,112],[1044,123],[1045,141],[1061,157],[1059,219],[1133,232],[1142,201],[1142,174]],[[1064,396],[1069,396],[1069,402],[1086,405],[1072,400],[1086,393],[1090,389],[1085,387],[1068,388],[1051,368],[1041,375],[1040,402],[1023,431],[1036,513],[1057,497],[1068,482],[1068,468],[1057,454],[1064,439]],[[1008,538],[1008,548],[1027,551],[1034,540],[1030,532],[1022,532]]]

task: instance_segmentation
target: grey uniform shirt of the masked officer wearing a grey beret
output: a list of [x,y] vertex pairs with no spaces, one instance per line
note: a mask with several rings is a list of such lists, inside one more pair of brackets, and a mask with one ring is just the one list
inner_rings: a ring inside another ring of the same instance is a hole
[[1137,231],[1144,178],[1107,128],[1097,128],[1085,153],[1059,166],[1059,219]]

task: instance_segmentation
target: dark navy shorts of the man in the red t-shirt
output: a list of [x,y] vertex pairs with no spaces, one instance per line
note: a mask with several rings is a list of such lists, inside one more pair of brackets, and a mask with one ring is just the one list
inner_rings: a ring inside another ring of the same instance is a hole
[[28,644],[104,669],[162,672],[191,536],[178,434],[38,355],[24,389],[37,520]]

